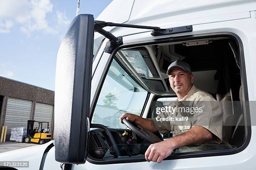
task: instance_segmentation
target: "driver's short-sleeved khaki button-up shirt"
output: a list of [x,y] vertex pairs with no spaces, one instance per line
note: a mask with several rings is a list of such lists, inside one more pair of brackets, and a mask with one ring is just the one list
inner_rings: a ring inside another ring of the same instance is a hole
[[[175,100],[168,107],[174,109],[176,107],[176,110],[165,110],[152,119],[153,125],[160,133],[172,131],[173,136],[176,136],[194,126],[202,126],[214,134],[211,142],[222,142],[222,110],[209,93],[193,85],[181,101]],[[160,119],[166,117],[169,117],[169,120]]]

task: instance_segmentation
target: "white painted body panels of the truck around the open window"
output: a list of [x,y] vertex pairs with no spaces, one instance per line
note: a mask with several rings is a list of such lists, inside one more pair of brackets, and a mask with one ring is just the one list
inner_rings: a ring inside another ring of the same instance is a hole
[[[246,68],[246,79],[248,88],[248,100],[256,101],[256,1],[255,0],[114,0],[99,15],[97,20],[104,20],[113,23],[126,23],[134,25],[157,26],[160,28],[175,28],[192,25],[192,32],[178,33],[174,35],[162,35],[154,37],[150,31],[134,28],[109,27],[116,37],[123,37],[123,44],[142,41],[157,40],[166,37],[179,37],[186,35],[207,34],[213,32],[232,32],[236,34],[243,44],[244,62]],[[95,44],[100,45],[102,35],[95,33]],[[104,52],[108,42],[105,39],[95,56],[92,64],[92,86],[90,104],[97,93],[97,85],[104,72],[111,55]],[[154,94],[148,99],[151,103]],[[148,108],[143,112],[142,117],[147,117]],[[161,169],[161,170],[235,170],[235,169],[256,169],[256,105],[250,105],[251,139],[241,152],[232,155],[207,156],[199,158],[186,158],[164,160],[162,163],[134,162],[134,163],[112,163],[95,164],[86,161],[84,164],[72,165],[74,170],[102,170],[102,169]],[[52,142],[40,146],[33,146],[19,150],[13,150],[0,154],[1,161],[29,161],[29,168],[36,170],[40,168],[44,150]],[[60,164],[55,160],[55,147],[51,148],[43,161],[42,170],[60,169]],[[19,169],[19,168],[17,168]]]

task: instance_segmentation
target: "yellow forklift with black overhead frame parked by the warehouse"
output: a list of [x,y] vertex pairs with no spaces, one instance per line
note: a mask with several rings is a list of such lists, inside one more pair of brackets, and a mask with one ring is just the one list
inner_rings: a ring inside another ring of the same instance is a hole
[[[38,128],[34,127],[34,123],[38,122]],[[43,129],[43,123],[47,123],[47,128]],[[51,133],[49,129],[49,122],[39,122],[35,120],[28,120],[27,136],[24,138],[25,143],[39,143],[44,144],[51,140]]]

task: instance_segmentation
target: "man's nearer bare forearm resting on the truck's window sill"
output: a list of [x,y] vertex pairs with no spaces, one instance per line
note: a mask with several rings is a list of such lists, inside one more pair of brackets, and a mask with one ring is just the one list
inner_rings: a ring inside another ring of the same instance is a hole
[[212,133],[201,126],[195,126],[187,132],[166,140],[172,148],[179,148],[190,144],[203,144],[212,139]]

